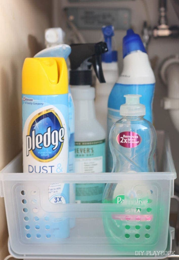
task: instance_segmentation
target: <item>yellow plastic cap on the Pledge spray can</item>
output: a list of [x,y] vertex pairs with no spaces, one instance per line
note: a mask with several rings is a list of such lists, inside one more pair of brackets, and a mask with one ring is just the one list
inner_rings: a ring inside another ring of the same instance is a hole
[[68,70],[64,58],[26,58],[22,69],[22,94],[68,93]]

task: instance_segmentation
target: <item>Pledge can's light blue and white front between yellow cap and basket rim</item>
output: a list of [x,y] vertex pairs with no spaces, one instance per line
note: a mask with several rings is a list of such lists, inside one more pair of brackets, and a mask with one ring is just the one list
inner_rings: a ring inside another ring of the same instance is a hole
[[[60,99],[66,99],[66,106]],[[68,94],[27,95],[23,103],[23,167],[29,173],[68,169]],[[58,104],[58,105],[56,105]]]

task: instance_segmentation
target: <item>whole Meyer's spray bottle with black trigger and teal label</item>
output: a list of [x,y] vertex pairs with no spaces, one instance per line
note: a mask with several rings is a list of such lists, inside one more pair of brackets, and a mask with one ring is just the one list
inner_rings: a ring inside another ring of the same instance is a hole
[[[70,86],[75,105],[75,172],[105,172],[105,131],[95,115],[92,70],[105,82],[101,54],[106,43],[72,44]],[[104,184],[76,184],[76,203],[101,203]]]

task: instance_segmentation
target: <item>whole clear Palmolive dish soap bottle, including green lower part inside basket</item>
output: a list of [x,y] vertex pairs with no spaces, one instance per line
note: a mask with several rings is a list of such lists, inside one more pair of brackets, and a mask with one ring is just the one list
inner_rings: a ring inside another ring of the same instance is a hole
[[[120,115],[122,118],[114,123],[109,135],[109,144],[114,161],[112,172],[126,172],[126,174],[134,172],[153,172],[153,156],[156,149],[155,128],[149,121],[144,119],[145,106],[139,102],[141,95],[125,95],[124,97],[126,98],[126,103],[120,106]],[[132,181],[133,179],[131,182]],[[141,181],[139,184],[139,187],[143,187]],[[130,237],[128,232],[126,232],[123,238],[124,229],[127,231],[130,229],[130,225],[141,221],[141,225],[135,226],[135,229],[138,230],[140,226],[147,225],[148,221],[151,220],[151,216],[146,214],[146,212],[150,212],[151,209],[148,208],[146,210],[145,203],[144,205],[142,204],[143,206],[139,206],[145,198],[137,199],[136,187],[137,185],[134,181],[133,190],[128,189],[127,181],[122,179],[120,183],[106,184],[102,202],[119,204],[117,211],[116,207],[113,209],[110,207],[112,212],[111,217],[106,214],[103,216],[106,236],[109,237],[110,242],[113,240],[113,244],[115,245],[117,243],[119,244],[122,239],[128,239]],[[144,187],[146,188],[146,186]],[[141,191],[139,190],[139,192]],[[135,205],[137,205],[137,207]],[[131,220],[129,221],[131,223],[130,225],[127,225],[128,220]],[[135,234],[135,236],[134,234],[135,233],[131,233],[135,240],[140,237],[139,234]],[[131,239],[131,243],[135,244],[136,241],[133,240],[132,236]],[[124,245],[120,250],[126,252],[128,245]]]

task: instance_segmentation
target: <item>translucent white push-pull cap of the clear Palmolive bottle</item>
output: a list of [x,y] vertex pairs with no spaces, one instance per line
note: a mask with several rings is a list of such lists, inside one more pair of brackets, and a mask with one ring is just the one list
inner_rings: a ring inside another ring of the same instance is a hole
[[145,106],[140,103],[141,95],[124,95],[126,103],[120,106],[122,116],[142,116],[146,114]]

